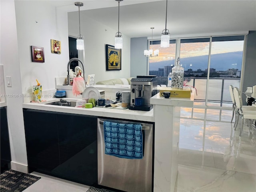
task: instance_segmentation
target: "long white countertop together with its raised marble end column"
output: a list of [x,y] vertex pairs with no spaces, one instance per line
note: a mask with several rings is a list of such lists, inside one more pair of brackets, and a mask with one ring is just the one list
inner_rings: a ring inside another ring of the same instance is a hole
[[[113,108],[74,108],[65,106],[52,106],[45,103],[23,104],[24,109],[33,109],[49,112],[79,114],[123,120],[136,120],[154,123],[154,182],[153,191],[174,191],[178,172],[178,146],[180,128],[180,107],[192,107],[194,92],[190,98],[160,97],[159,93],[150,99],[153,109],[145,112],[128,109]],[[68,99],[67,99],[68,100]],[[72,100],[72,99],[70,99]]]

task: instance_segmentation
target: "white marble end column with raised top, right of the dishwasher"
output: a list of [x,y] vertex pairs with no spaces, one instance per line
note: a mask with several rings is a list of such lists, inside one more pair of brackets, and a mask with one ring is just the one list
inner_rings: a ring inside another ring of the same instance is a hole
[[174,191],[178,174],[180,107],[193,107],[190,98],[150,98],[155,118],[154,192]]

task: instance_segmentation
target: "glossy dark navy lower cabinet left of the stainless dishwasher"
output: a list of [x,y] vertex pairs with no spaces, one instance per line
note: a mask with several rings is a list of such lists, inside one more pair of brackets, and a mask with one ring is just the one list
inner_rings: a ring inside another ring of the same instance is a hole
[[23,113],[29,172],[97,183],[96,117],[30,109]]

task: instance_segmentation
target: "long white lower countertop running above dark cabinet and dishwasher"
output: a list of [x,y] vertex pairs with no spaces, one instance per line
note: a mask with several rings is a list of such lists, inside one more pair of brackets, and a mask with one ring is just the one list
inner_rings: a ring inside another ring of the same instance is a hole
[[[76,107],[66,107],[66,106],[56,106],[56,105],[47,105],[46,103],[58,101],[58,98],[52,98],[46,102],[41,103],[25,103],[22,105],[23,108],[35,109],[35,110],[44,110],[52,112],[64,112],[72,114],[82,114],[90,116],[99,116],[99,117],[109,117],[109,118],[120,118],[128,120],[139,120],[146,122],[154,122],[153,110],[150,111],[138,111],[138,110],[129,110],[129,109],[115,109],[115,108],[76,108]],[[77,99],[64,98],[67,101],[76,101]]]

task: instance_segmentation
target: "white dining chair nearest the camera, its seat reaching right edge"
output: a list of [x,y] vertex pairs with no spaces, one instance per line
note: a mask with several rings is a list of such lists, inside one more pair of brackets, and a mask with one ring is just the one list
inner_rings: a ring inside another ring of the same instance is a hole
[[[233,93],[234,93],[234,99],[236,102],[236,122],[235,122],[234,130],[236,130],[236,128],[237,128],[238,116],[240,116],[241,130],[240,130],[239,136],[241,136],[242,131],[243,131],[243,126],[244,126],[244,119],[255,120],[256,119],[256,108],[254,106],[247,106],[247,108],[242,106],[241,93],[237,87],[234,88]],[[249,126],[248,132],[249,132],[248,135],[250,135],[250,126]]]

